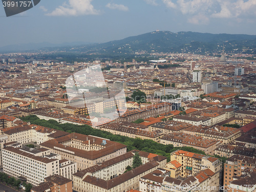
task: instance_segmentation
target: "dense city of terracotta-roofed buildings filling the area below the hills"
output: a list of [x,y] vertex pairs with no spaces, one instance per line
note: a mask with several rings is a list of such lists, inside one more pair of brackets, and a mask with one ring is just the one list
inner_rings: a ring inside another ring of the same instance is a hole
[[0,55],[2,183],[32,192],[256,190],[255,55],[51,54]]

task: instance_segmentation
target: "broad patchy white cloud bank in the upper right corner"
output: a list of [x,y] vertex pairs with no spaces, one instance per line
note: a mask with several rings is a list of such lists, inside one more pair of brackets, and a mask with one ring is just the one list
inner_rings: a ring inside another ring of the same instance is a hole
[[[188,15],[188,22],[207,24],[213,18],[256,16],[256,0],[162,0],[166,7]],[[202,17],[202,18],[200,18]],[[251,17],[250,17],[251,18]]]

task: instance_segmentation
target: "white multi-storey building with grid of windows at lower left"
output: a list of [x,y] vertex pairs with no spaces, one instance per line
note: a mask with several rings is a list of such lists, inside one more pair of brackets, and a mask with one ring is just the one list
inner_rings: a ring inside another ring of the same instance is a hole
[[50,151],[44,148],[31,149],[4,147],[2,149],[4,172],[14,177],[23,176],[33,185],[43,182],[45,177],[59,174],[58,155],[50,154]]

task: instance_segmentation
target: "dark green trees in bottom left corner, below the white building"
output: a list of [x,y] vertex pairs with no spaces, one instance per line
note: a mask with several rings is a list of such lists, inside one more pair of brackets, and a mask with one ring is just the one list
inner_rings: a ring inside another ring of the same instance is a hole
[[6,173],[3,172],[0,172],[0,181],[7,185],[16,187],[16,189],[19,189],[19,185],[22,184],[26,188],[26,192],[30,192],[31,188],[33,187],[31,183],[22,183],[22,181],[19,179],[16,180],[14,177],[9,177]]

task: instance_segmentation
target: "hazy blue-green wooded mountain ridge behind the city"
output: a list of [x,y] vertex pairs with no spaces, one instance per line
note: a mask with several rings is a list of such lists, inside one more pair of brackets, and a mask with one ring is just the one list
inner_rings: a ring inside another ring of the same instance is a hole
[[63,47],[45,46],[36,50],[86,54],[149,54],[152,52],[207,54],[222,52],[223,44],[227,52],[256,54],[256,35],[212,34],[191,31],[177,33],[153,31],[103,43],[66,45]]

